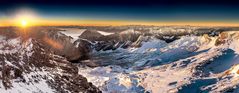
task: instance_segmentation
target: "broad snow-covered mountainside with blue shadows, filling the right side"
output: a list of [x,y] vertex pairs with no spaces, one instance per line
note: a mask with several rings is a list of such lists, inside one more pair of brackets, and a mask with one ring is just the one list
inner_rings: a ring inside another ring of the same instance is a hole
[[[239,33],[226,34],[183,36],[169,44],[152,39],[140,48],[101,51],[97,57],[131,65],[81,68],[79,74],[106,93],[239,92]],[[215,45],[219,38],[226,42]]]

